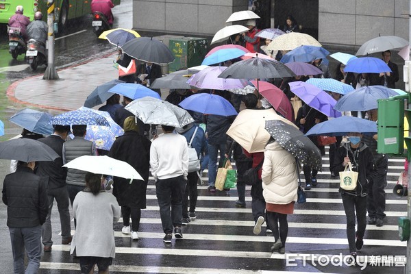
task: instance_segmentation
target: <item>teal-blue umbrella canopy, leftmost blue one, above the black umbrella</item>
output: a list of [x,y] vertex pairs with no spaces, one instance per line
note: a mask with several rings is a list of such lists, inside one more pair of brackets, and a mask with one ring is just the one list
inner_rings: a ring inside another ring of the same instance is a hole
[[11,116],[9,121],[30,132],[50,135],[53,133],[53,126],[49,123],[52,118],[51,114],[26,108]]

